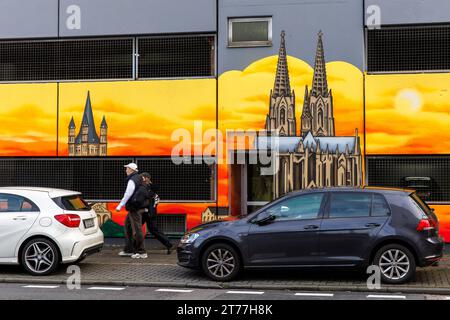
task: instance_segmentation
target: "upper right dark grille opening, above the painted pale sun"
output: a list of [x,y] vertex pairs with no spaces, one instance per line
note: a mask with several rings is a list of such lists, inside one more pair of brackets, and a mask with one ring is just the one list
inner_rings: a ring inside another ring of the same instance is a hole
[[367,30],[368,72],[450,70],[450,25]]

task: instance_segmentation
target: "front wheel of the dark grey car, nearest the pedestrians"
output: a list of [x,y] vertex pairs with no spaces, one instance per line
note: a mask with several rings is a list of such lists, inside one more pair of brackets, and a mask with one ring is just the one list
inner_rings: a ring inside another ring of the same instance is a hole
[[216,243],[203,253],[202,268],[203,272],[215,281],[230,281],[239,274],[241,260],[232,246]]

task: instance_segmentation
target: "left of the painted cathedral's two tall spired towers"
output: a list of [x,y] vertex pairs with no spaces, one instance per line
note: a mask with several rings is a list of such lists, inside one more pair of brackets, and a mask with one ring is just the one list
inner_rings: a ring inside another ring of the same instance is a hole
[[266,117],[266,130],[277,131],[280,136],[296,136],[295,93],[291,91],[287,65],[285,33],[281,32],[277,72],[273,90],[270,92],[269,114]]

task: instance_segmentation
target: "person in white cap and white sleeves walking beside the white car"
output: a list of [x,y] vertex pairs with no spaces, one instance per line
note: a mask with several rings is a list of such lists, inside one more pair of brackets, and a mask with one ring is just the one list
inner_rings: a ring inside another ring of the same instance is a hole
[[127,188],[122,200],[116,207],[116,211],[120,211],[125,206],[128,214],[125,218],[125,248],[119,253],[119,256],[133,259],[147,258],[144,248],[144,234],[142,232],[142,213],[144,209],[132,206],[131,201],[129,201],[139,185],[142,184],[142,178],[138,174],[138,167],[135,163],[129,163],[124,167],[127,173]]

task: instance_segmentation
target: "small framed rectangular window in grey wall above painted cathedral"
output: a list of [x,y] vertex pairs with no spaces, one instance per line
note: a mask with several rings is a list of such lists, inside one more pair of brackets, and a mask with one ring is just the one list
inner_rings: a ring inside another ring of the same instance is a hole
[[272,45],[272,17],[229,18],[229,47],[260,47]]

